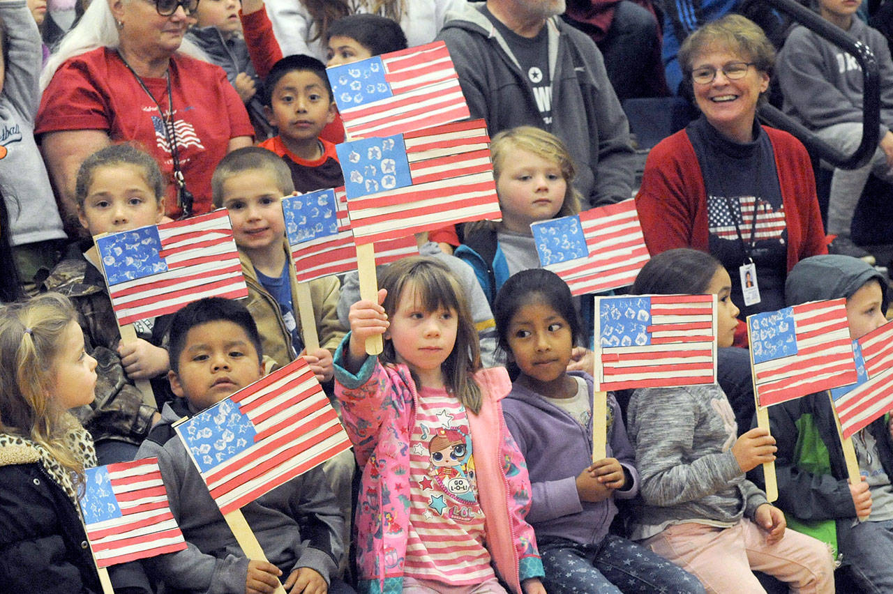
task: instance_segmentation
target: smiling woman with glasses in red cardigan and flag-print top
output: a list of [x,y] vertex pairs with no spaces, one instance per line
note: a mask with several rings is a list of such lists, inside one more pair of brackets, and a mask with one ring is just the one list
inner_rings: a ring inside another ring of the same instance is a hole
[[[648,250],[713,254],[729,270],[741,319],[781,309],[790,268],[826,248],[803,144],[756,120],[772,43],[730,14],[692,33],[679,57],[701,117],[648,155],[636,197]],[[743,323],[736,338],[747,340]]]

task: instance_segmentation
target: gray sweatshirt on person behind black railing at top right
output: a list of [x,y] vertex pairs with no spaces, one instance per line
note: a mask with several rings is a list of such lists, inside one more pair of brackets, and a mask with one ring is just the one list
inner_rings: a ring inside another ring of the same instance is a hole
[[[880,74],[880,136],[893,128],[893,60],[886,39],[858,18],[847,31],[867,45]],[[862,121],[862,69],[850,54],[805,27],[791,31],[779,53],[784,111],[807,128]]]

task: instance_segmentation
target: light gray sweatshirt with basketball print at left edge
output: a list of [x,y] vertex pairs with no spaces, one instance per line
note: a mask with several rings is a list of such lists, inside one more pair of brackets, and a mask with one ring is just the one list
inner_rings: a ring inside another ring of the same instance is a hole
[[[40,32],[25,0],[0,1],[9,59],[0,93],[0,191],[10,219],[10,243],[65,236],[53,188],[34,140],[43,62]],[[6,233],[0,229],[0,233]]]

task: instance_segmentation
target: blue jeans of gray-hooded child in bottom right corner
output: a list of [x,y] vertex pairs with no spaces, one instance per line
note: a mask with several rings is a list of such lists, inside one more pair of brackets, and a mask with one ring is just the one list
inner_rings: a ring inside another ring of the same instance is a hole
[[840,536],[840,553],[861,590],[893,592],[893,521],[860,522]]

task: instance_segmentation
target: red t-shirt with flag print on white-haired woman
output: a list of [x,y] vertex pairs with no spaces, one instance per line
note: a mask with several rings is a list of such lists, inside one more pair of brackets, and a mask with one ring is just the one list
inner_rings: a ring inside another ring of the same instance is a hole
[[[254,136],[245,105],[219,66],[175,54],[171,95],[179,166],[195,196],[193,212],[213,209],[211,175],[231,138]],[[143,82],[169,112],[165,78]],[[173,158],[163,116],[114,49],[100,47],[68,60],[56,70],[40,100],[35,134],[61,130],[104,130],[113,141],[133,140],[159,162],[168,180],[165,213],[180,215],[173,184]]]

